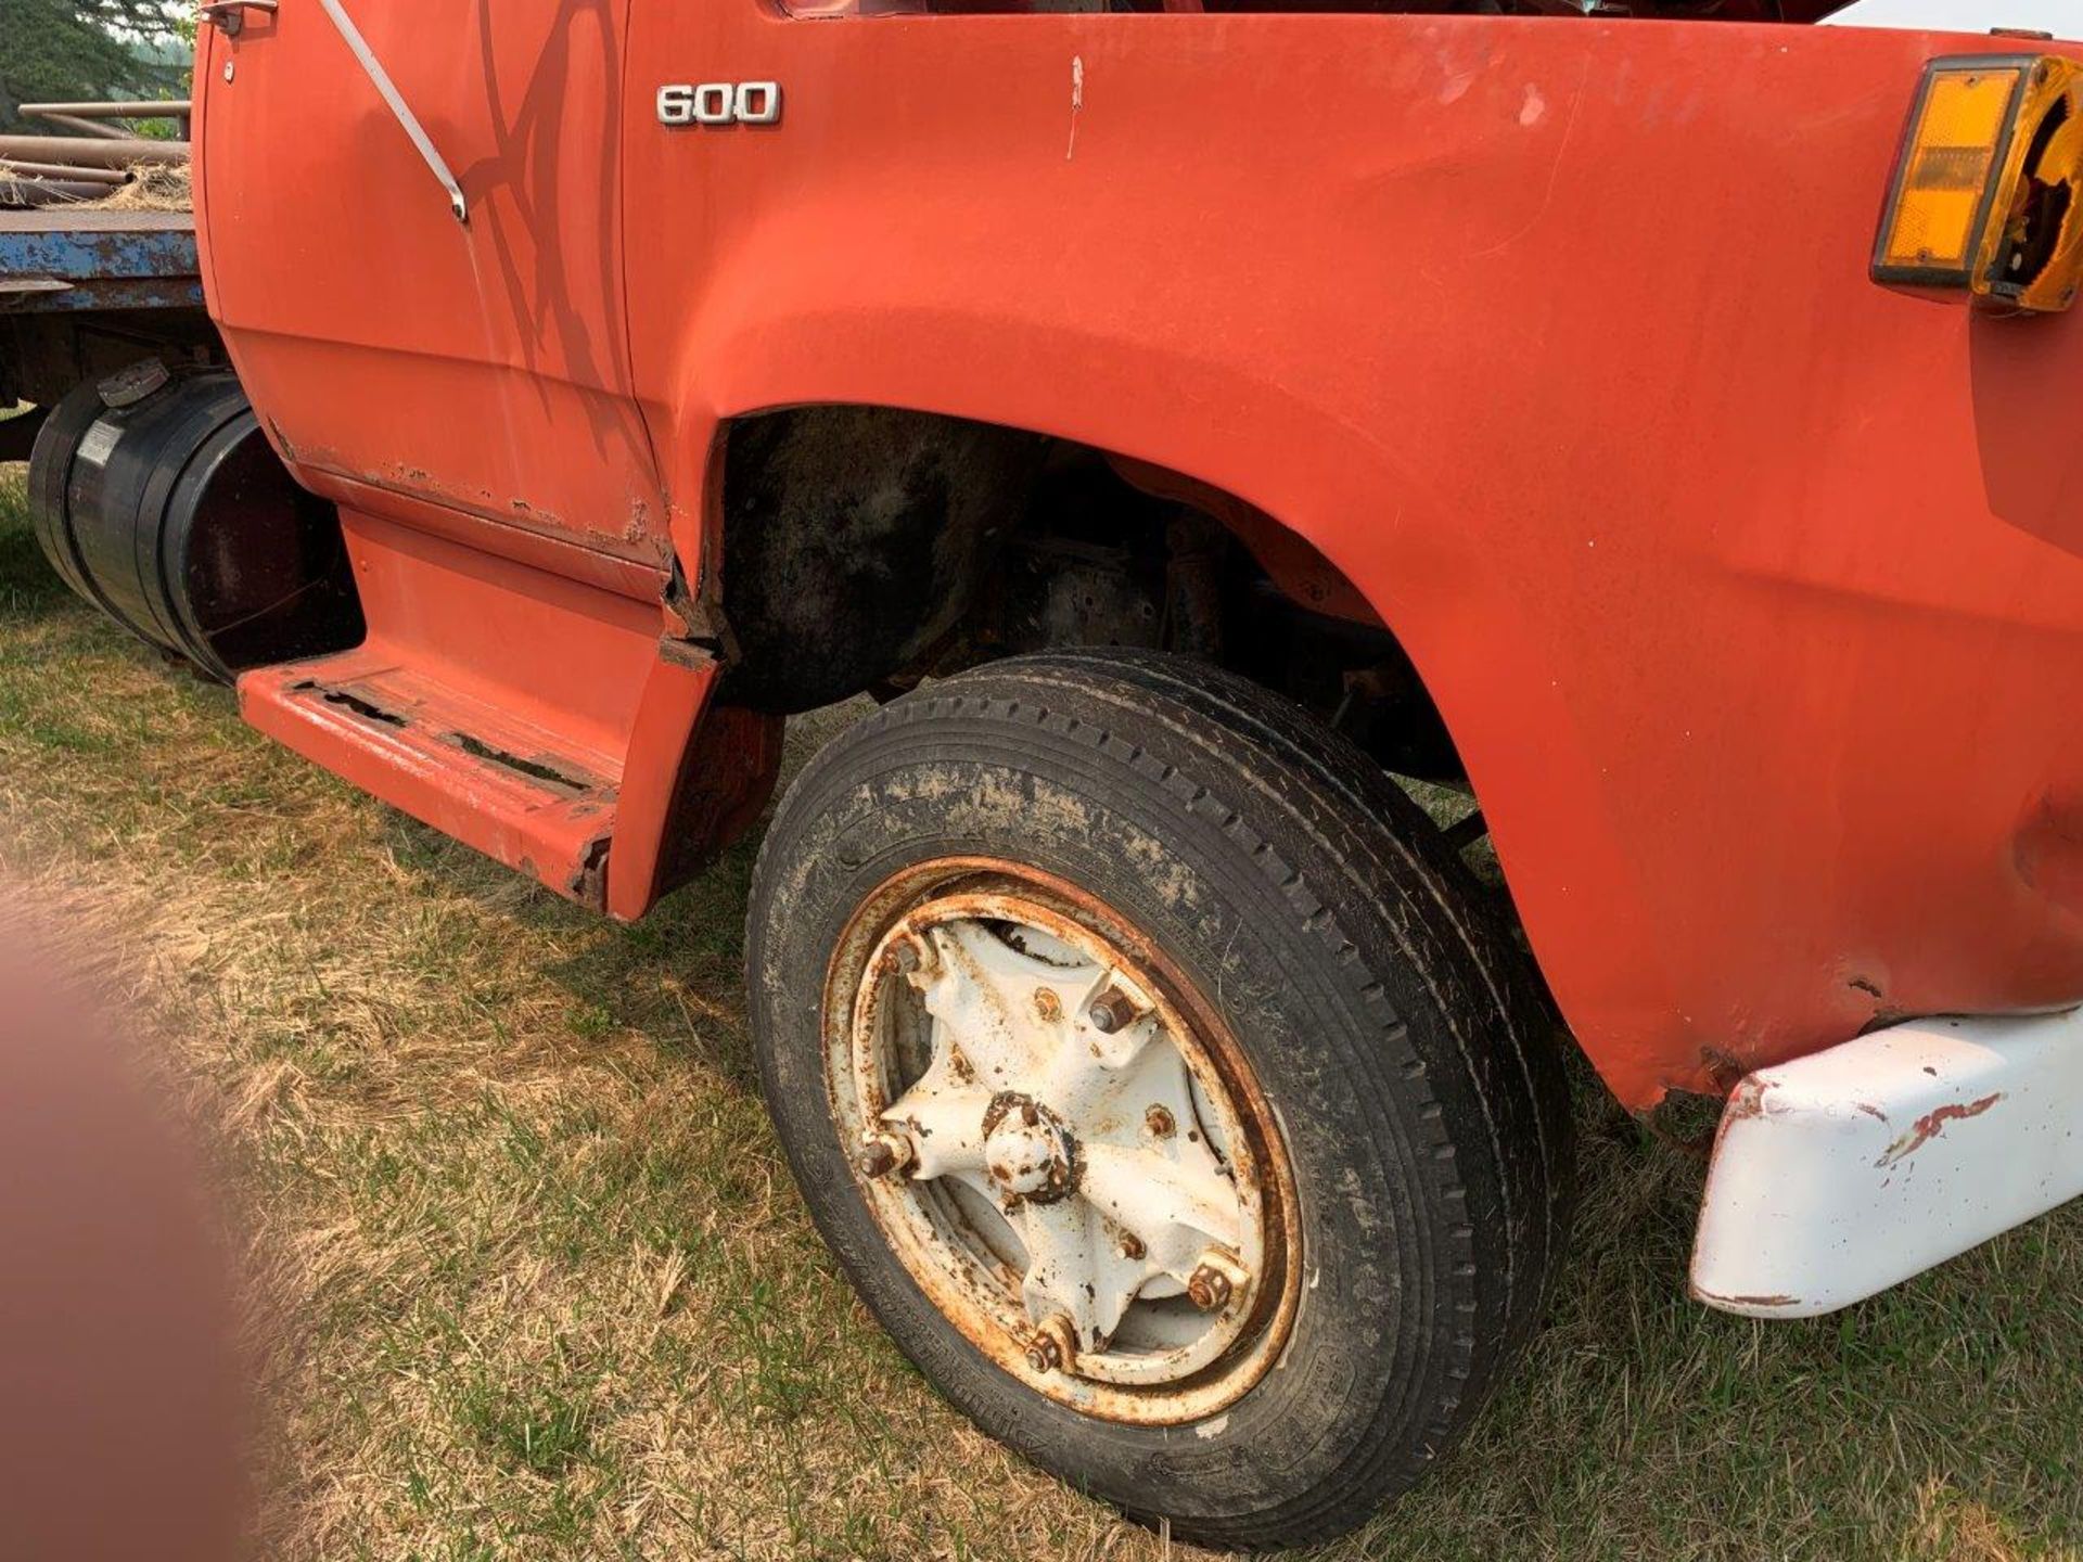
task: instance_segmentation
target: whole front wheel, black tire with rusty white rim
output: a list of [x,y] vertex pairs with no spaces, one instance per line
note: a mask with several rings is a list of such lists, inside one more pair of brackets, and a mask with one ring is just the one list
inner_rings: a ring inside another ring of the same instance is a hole
[[1466,1427],[1562,1243],[1566,1102],[1479,891],[1356,750],[1164,656],[906,696],[789,789],[762,1087],[985,1431],[1191,1539],[1325,1539]]

